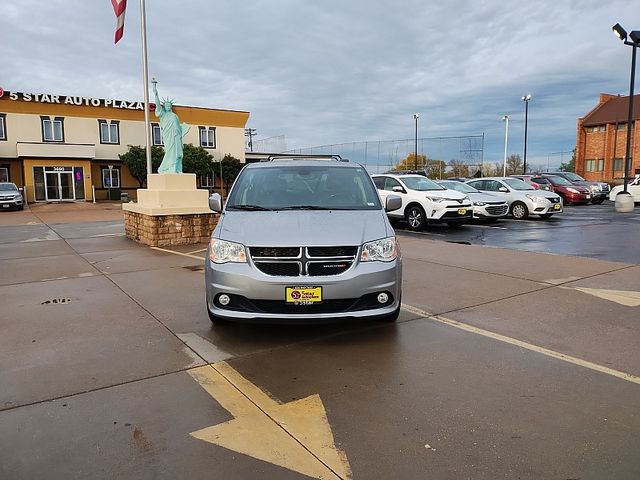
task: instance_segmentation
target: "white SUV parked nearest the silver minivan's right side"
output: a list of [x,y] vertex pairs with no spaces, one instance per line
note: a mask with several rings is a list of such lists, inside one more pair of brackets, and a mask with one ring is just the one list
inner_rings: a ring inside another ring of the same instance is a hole
[[383,203],[388,195],[400,196],[402,206],[387,215],[406,220],[411,230],[422,230],[427,223],[447,223],[455,227],[473,218],[467,195],[446,189],[427,177],[391,173],[372,177]]

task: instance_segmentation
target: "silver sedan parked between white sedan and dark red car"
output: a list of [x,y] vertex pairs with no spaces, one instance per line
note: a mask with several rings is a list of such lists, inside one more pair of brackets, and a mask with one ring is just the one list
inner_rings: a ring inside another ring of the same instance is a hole
[[556,193],[536,190],[531,185],[513,177],[486,177],[468,180],[466,183],[481,192],[504,198],[513,218],[524,220],[529,215],[548,219],[562,212],[562,200]]

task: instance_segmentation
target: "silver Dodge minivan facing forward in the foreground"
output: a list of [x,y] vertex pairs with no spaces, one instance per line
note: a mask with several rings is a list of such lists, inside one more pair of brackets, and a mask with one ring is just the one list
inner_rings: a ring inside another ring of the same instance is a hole
[[364,167],[330,159],[246,165],[221,212],[205,261],[211,321],[395,321],[402,262]]

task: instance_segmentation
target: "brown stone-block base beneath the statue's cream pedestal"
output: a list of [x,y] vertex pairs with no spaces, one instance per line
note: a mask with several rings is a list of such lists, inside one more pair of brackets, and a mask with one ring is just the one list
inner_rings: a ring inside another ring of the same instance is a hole
[[146,215],[124,211],[128,238],[151,247],[206,243],[220,217],[217,213]]

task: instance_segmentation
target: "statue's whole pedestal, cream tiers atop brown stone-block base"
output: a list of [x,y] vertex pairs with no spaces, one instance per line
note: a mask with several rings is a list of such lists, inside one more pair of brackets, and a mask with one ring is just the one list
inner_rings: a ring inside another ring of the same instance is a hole
[[192,173],[152,174],[137,203],[125,203],[128,238],[152,247],[209,241],[219,215],[209,209],[209,192],[196,188]]

